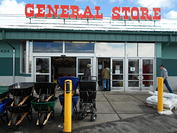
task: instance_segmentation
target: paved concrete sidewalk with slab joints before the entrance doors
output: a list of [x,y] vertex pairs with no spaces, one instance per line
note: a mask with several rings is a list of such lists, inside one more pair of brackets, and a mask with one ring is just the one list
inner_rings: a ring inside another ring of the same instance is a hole
[[155,109],[145,105],[147,93],[123,93],[123,92],[98,92],[97,93],[97,119],[90,121],[90,117],[82,121],[75,121],[73,129],[90,126],[110,121],[118,121],[127,118],[153,114]]

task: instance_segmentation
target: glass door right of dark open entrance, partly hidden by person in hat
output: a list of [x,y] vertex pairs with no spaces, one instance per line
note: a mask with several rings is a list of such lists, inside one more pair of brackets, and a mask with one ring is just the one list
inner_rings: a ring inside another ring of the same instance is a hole
[[92,76],[92,59],[91,58],[77,58],[77,77],[82,79],[85,76],[86,69],[90,69]]

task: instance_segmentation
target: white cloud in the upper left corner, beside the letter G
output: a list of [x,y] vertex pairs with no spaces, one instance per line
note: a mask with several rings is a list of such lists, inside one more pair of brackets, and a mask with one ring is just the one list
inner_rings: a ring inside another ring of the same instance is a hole
[[25,3],[16,0],[3,0],[0,4],[0,14],[24,14]]

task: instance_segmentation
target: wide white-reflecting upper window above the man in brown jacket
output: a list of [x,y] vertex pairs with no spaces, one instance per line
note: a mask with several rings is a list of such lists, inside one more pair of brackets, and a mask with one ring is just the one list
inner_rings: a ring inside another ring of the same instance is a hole
[[96,43],[98,57],[124,57],[124,43]]

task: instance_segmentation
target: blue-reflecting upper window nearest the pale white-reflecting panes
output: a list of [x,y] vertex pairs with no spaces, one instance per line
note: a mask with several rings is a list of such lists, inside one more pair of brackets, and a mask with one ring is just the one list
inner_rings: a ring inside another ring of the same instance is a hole
[[66,53],[94,53],[94,43],[66,42]]

